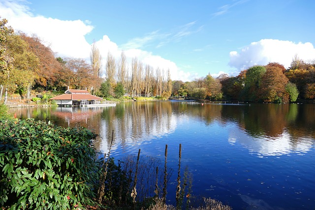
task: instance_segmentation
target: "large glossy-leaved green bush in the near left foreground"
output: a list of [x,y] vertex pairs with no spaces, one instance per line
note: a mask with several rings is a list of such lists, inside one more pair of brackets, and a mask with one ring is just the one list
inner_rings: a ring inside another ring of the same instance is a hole
[[0,205],[73,209],[94,205],[100,164],[85,128],[0,120]]

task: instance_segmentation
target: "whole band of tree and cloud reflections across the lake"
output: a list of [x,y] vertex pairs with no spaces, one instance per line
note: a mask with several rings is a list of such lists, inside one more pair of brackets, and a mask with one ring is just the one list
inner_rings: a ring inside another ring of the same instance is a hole
[[99,135],[97,148],[132,147],[173,133],[189,119],[211,126],[234,123],[228,141],[260,155],[308,151],[315,139],[315,105],[199,104],[190,102],[133,102],[116,107],[15,108],[21,118],[51,120],[63,127],[87,127]]

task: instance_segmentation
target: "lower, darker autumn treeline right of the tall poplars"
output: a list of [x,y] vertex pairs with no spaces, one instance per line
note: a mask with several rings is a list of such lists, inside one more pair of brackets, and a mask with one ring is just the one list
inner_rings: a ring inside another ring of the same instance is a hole
[[285,69],[279,63],[253,66],[237,76],[210,74],[192,82],[174,81],[173,96],[211,100],[286,103],[315,98],[315,62],[297,55]]

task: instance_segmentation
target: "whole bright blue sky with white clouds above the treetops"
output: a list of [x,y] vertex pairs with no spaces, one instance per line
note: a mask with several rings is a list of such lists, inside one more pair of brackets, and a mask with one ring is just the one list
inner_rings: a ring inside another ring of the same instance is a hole
[[57,56],[89,61],[95,41],[103,64],[124,50],[129,62],[183,81],[269,62],[287,68],[295,54],[314,60],[314,9],[313,0],[0,0],[8,25]]

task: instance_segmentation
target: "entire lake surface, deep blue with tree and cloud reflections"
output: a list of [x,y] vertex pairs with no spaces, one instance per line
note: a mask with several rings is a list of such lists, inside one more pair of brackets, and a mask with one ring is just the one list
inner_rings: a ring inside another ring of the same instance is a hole
[[[315,209],[315,105],[133,102],[93,108],[19,108],[21,118],[84,126],[99,135],[96,147],[111,154],[164,158],[175,171],[193,174],[193,195],[233,209]],[[172,193],[172,190],[174,193]]]

